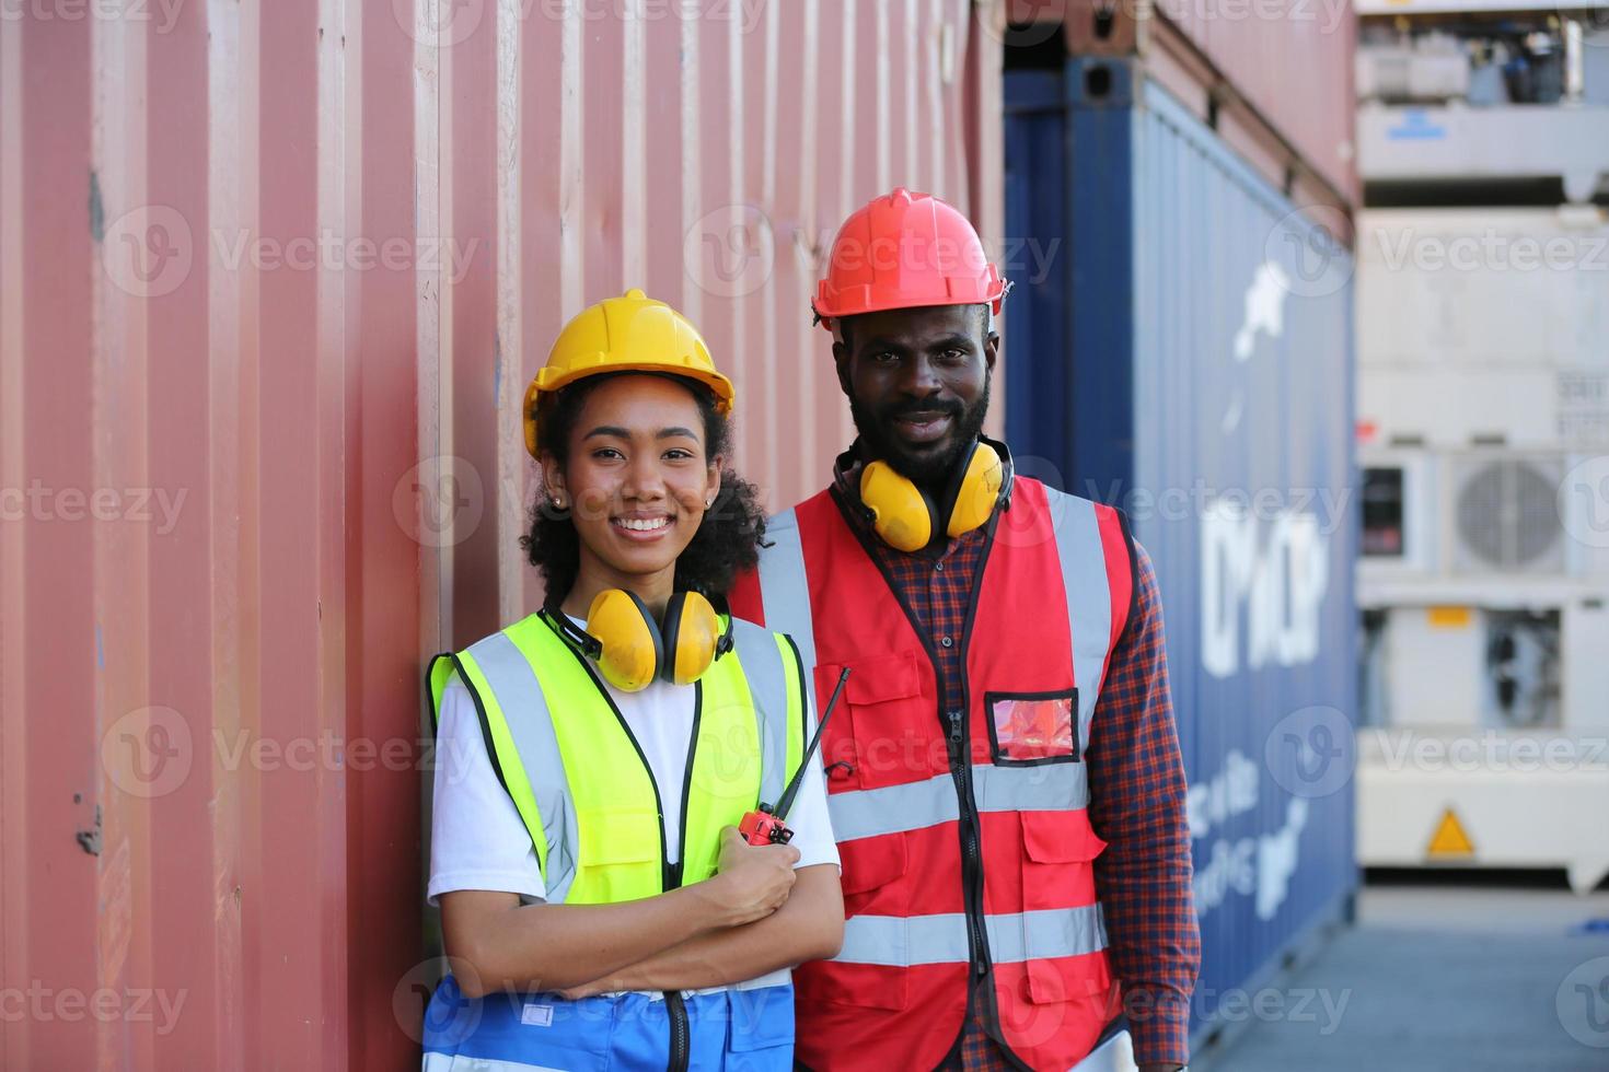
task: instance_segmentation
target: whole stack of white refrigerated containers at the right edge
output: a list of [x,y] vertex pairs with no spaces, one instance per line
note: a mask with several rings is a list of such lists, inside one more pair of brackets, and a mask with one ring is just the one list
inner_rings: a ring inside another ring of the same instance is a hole
[[1609,32],[1360,3],[1368,866],[1609,876]]

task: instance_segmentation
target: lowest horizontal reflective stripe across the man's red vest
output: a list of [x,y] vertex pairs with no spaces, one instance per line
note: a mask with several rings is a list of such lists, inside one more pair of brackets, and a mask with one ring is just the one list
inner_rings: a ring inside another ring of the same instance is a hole
[[[1012,964],[1052,956],[1081,956],[1105,948],[1101,905],[985,916],[990,959]],[[965,964],[970,961],[965,913],[936,916],[850,916],[843,923],[840,964]]]

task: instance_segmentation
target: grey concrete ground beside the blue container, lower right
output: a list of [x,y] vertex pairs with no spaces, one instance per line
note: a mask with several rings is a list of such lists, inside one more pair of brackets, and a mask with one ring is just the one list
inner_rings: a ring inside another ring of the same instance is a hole
[[[1595,923],[1596,921],[1596,923]],[[1609,894],[1369,887],[1358,923],[1274,984],[1216,1072],[1609,1070]]]

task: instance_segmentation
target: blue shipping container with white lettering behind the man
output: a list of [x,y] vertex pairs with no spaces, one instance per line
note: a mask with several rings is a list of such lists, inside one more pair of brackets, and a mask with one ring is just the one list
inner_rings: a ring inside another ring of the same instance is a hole
[[1200,1040],[1356,889],[1352,257],[1126,59],[1007,72],[1006,172],[1007,248],[1060,251],[1010,302],[1020,468],[1162,585]]

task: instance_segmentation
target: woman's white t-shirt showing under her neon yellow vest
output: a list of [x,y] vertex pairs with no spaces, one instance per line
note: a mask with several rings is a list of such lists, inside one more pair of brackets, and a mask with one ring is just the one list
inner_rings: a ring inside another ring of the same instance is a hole
[[[665,802],[665,852],[681,860],[679,804],[687,771],[687,744],[693,731],[693,688],[655,681],[640,693],[624,693],[605,683],[642,754]],[[806,688],[806,693],[809,689]],[[814,702],[806,701],[809,731],[816,731]],[[795,868],[821,863],[838,865],[838,845],[827,818],[827,784],[821,752],[811,760],[800,783],[793,808],[790,842],[800,850]],[[452,890],[502,890],[518,894],[521,903],[539,903],[547,895],[536,845],[508,792],[497,781],[479,715],[470,691],[457,673],[441,694],[436,726],[434,802],[430,826],[431,905]],[[788,972],[776,972],[756,984],[785,984]]]

